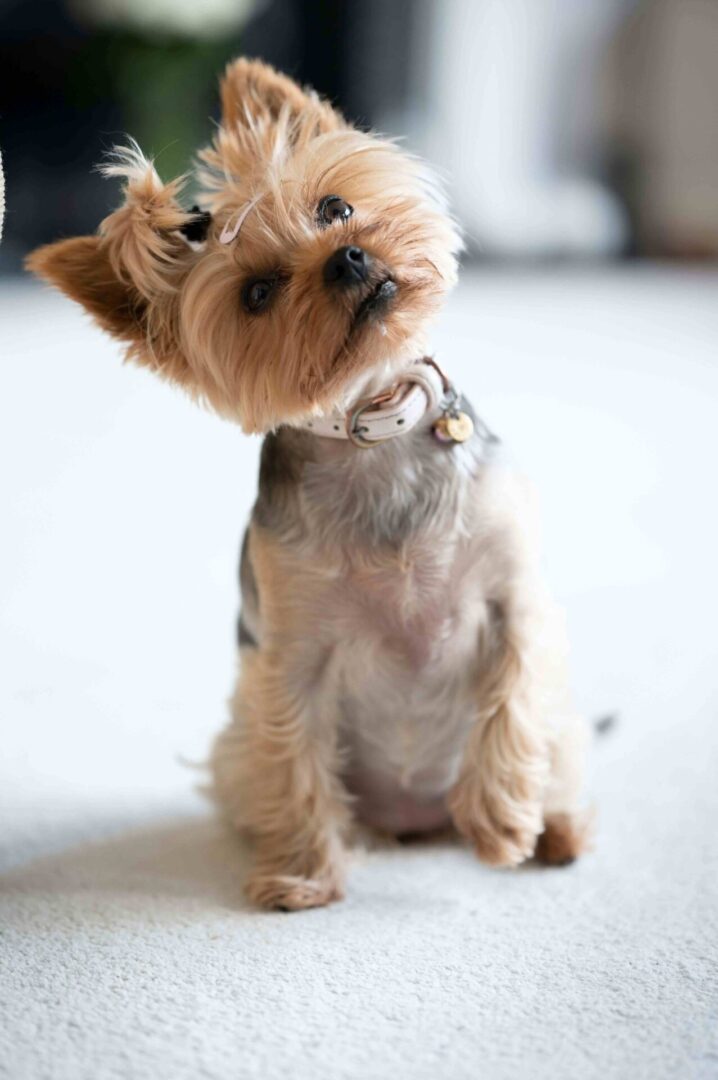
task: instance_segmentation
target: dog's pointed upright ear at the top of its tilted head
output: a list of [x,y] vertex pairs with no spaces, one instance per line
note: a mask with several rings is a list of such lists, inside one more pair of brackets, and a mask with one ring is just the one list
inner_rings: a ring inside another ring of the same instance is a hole
[[315,134],[343,126],[339,112],[313,91],[269,64],[242,57],[227,66],[220,83],[222,125],[229,131],[276,122],[286,116],[295,127]]

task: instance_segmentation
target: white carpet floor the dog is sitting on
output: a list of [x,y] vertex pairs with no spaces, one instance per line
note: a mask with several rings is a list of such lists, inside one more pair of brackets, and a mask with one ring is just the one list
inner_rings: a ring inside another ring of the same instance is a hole
[[597,741],[596,852],[356,858],[248,910],[193,793],[258,443],[0,285],[0,1075],[718,1077],[718,275],[466,275],[437,356],[543,496]]

